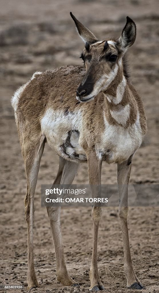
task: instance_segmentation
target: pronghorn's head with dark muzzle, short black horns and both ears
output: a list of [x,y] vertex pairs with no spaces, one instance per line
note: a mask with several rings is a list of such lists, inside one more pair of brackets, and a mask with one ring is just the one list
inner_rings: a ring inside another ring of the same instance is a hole
[[135,41],[136,25],[127,16],[122,35],[117,40],[99,41],[71,12],[70,15],[85,42],[81,58],[86,67],[86,74],[77,89],[76,98],[80,102],[88,102],[100,91],[106,91],[117,75],[123,76],[122,57]]

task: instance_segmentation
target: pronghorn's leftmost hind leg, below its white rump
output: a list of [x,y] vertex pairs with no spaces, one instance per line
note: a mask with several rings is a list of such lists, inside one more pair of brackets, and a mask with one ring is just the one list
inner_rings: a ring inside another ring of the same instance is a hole
[[34,252],[33,252],[33,224],[34,224],[34,194],[37,183],[37,176],[40,167],[40,160],[45,146],[45,136],[35,141],[27,141],[22,144],[22,154],[25,163],[27,175],[27,192],[24,200],[25,219],[28,227],[28,289],[39,287],[34,269]]

